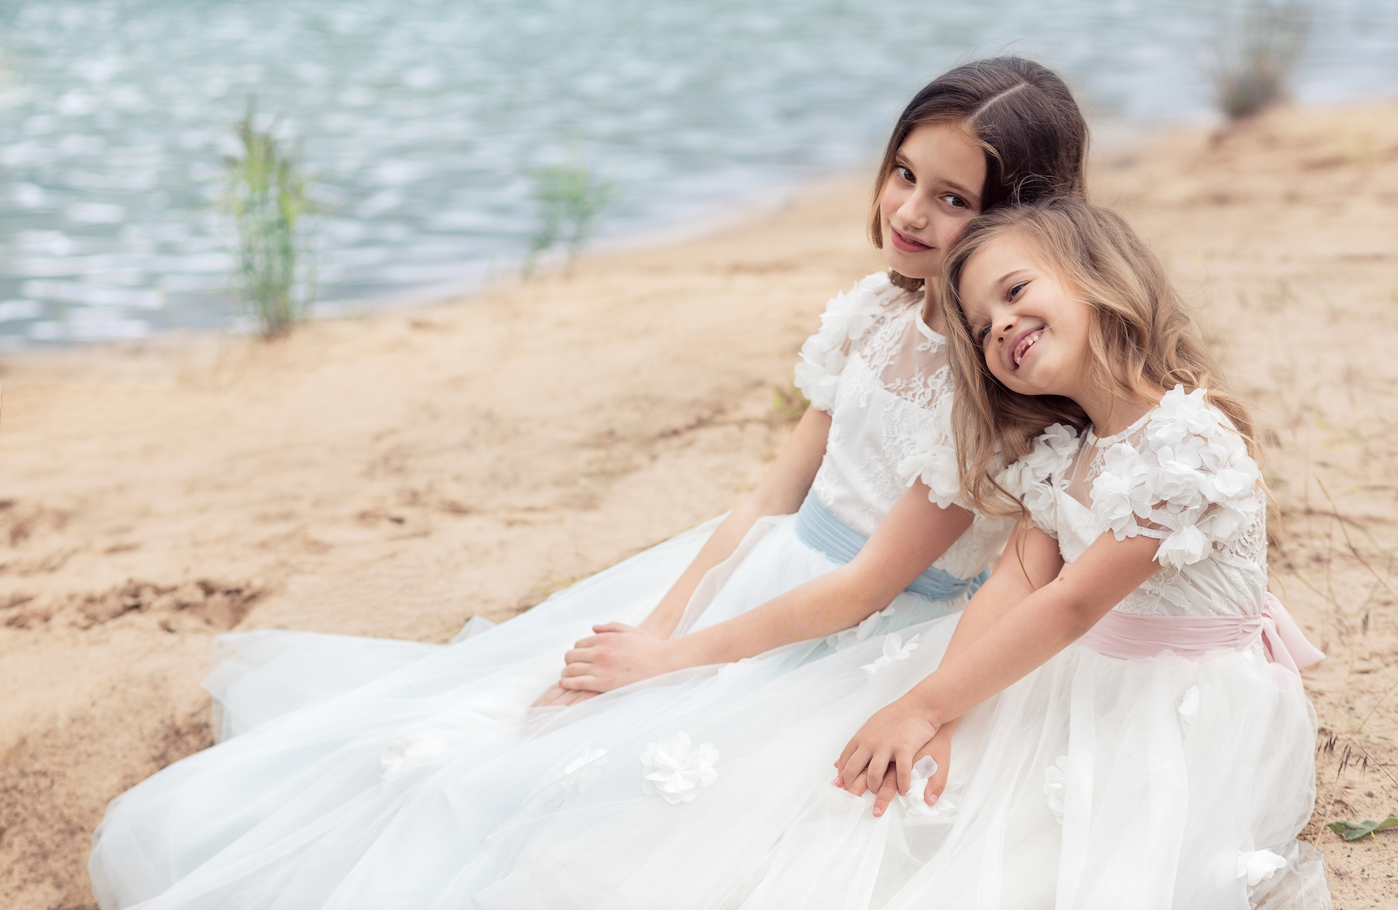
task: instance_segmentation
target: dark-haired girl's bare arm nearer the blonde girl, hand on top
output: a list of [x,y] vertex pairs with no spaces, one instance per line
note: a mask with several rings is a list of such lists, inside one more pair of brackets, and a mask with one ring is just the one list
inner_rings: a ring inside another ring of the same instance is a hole
[[566,654],[563,688],[610,691],[682,667],[752,657],[847,629],[882,609],[970,527],[959,506],[928,500],[921,481],[889,510],[851,562],[741,616],[670,642],[619,623],[596,626]]

